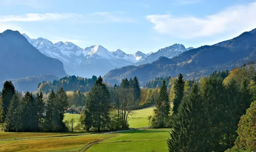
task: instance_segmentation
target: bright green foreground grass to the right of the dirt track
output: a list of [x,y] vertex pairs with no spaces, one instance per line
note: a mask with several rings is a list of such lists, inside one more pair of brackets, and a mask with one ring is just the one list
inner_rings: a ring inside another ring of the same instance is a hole
[[169,131],[146,129],[116,133],[116,136],[91,146],[87,152],[168,152]]

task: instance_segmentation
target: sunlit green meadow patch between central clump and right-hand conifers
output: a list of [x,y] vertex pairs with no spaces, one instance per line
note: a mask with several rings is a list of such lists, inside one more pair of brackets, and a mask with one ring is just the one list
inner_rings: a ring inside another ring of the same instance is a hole
[[148,116],[153,115],[154,107],[135,110],[134,115],[128,118],[130,128],[142,128],[148,126]]

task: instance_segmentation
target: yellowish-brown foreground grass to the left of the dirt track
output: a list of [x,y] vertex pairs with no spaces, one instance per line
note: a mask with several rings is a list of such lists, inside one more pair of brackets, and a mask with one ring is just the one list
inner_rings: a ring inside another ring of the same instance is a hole
[[112,135],[82,135],[58,138],[0,141],[1,152],[59,152],[78,151],[88,143],[111,137]]

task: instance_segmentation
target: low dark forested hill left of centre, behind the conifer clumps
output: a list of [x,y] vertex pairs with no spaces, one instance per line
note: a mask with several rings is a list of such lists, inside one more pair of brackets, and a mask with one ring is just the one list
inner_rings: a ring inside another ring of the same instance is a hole
[[58,89],[63,87],[66,91],[80,90],[80,92],[88,92],[93,87],[95,81],[97,80],[96,76],[92,78],[83,78],[76,76],[67,76],[62,77],[59,80],[43,81],[38,84],[38,91],[44,93],[49,93],[51,90],[57,92]]

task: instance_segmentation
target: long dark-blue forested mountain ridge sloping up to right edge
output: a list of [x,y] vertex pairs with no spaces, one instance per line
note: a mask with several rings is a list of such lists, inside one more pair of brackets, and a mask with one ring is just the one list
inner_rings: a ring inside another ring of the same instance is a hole
[[256,60],[256,29],[213,46],[191,49],[172,59],[160,57],[153,63],[141,66],[125,66],[108,72],[104,79],[112,85],[125,77],[137,76],[141,85],[155,77],[199,79],[214,71],[233,69]]

